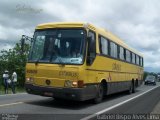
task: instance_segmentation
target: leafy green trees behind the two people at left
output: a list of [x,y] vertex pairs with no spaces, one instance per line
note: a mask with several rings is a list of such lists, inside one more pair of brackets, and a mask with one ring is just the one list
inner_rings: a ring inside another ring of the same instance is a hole
[[23,46],[23,53],[21,51],[21,43],[17,43],[12,49],[2,50],[0,52],[0,77],[4,70],[8,70],[9,74],[15,71],[18,75],[18,84],[24,86],[25,82],[25,65],[29,53],[29,44]]

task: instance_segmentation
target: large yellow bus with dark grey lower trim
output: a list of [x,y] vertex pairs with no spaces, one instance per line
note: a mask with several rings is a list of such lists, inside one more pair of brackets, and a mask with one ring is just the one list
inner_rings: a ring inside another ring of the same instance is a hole
[[142,83],[143,56],[111,32],[83,22],[40,24],[33,36],[25,87],[55,99],[102,101]]

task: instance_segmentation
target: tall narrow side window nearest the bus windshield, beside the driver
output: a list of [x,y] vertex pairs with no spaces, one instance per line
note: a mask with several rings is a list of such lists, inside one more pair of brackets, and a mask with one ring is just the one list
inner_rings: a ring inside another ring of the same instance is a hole
[[89,31],[88,37],[87,64],[91,65],[96,57],[96,34]]

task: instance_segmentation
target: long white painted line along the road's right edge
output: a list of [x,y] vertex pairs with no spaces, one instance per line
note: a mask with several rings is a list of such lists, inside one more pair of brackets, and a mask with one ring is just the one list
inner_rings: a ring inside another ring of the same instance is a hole
[[159,87],[159,85],[156,86],[156,87],[154,87],[154,88],[151,88],[151,89],[149,89],[149,90],[147,90],[147,91],[145,91],[145,92],[143,92],[143,93],[141,93],[141,94],[139,94],[139,95],[137,95],[137,96],[134,96],[134,97],[132,97],[132,98],[130,98],[130,99],[127,99],[127,100],[125,100],[125,101],[123,101],[123,102],[120,102],[120,103],[118,103],[118,104],[115,104],[115,105],[113,105],[113,106],[111,106],[111,107],[109,107],[109,108],[103,109],[103,110],[101,110],[101,111],[99,111],[99,112],[97,112],[97,113],[95,113],[95,114],[89,115],[89,116],[84,117],[84,118],[82,118],[82,119],[80,119],[80,120],[88,120],[88,119],[91,119],[91,118],[93,118],[93,117],[96,117],[97,115],[100,115],[100,114],[102,114],[102,113],[105,113],[105,112],[107,112],[107,111],[109,111],[109,110],[112,110],[112,109],[114,109],[114,108],[116,108],[116,107],[118,107],[118,106],[120,106],[120,105],[123,105],[123,104],[125,104],[125,103],[127,103],[127,102],[129,102],[129,101],[131,101],[131,100],[133,100],[133,99],[136,99],[136,98],[138,98],[138,97],[140,97],[140,96],[142,96],[142,95],[150,92],[151,90],[153,90],[153,89],[155,89],[155,88],[157,88],[157,87]]

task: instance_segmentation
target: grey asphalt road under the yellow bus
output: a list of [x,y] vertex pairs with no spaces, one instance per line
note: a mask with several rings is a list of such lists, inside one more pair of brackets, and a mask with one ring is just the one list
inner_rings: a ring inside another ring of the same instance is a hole
[[[160,86],[160,83],[156,86],[142,85],[134,94],[131,95],[128,95],[126,92],[109,95],[106,96],[100,104],[93,104],[92,101],[56,101],[53,98],[29,95],[25,93],[16,95],[0,95],[0,119],[5,117],[18,117],[18,120],[77,120],[82,118],[97,119],[97,116],[94,116],[97,113],[148,114],[152,112],[153,108],[160,100],[160,87],[158,86]],[[154,87],[157,88],[153,89]],[[141,95],[150,89],[153,90]],[[129,100],[134,97],[135,99]],[[126,100],[128,101],[122,105],[118,105]]]

